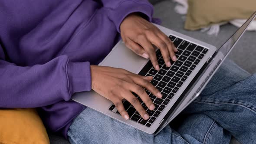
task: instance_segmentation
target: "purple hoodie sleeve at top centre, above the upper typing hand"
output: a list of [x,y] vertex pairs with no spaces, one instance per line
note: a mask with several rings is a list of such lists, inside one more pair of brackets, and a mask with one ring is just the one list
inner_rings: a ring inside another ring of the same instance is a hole
[[108,18],[115,23],[120,33],[121,22],[130,13],[143,13],[152,22],[153,6],[148,0],[101,0],[103,7],[108,9]]

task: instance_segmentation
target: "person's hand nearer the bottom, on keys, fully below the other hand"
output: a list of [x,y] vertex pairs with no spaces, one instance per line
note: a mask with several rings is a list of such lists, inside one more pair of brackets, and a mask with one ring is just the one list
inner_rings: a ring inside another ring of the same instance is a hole
[[141,100],[144,101],[150,110],[154,110],[155,106],[144,88],[158,98],[162,97],[158,89],[150,83],[152,80],[151,76],[144,77],[128,72],[125,69],[91,65],[91,77],[92,89],[112,101],[121,116],[126,120],[129,118],[129,115],[125,111],[122,99],[129,101],[142,118],[149,118],[140,101],[132,94],[132,92],[139,95]]

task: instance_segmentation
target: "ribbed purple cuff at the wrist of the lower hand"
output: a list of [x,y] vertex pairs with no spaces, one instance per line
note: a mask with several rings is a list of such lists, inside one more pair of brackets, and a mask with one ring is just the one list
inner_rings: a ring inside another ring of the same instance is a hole
[[67,65],[69,93],[90,91],[92,89],[91,69],[89,62],[69,62]]

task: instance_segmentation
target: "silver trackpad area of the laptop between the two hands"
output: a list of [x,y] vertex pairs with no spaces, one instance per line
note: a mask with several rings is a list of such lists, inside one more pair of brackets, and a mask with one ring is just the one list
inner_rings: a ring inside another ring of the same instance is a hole
[[126,69],[138,74],[146,62],[148,59],[138,56],[124,43],[119,42],[99,65]]

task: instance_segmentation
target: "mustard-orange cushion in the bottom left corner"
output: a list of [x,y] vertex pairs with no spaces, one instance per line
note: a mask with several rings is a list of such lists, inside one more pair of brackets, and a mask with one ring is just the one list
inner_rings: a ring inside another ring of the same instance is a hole
[[36,110],[1,109],[0,144],[49,144],[46,129]]

